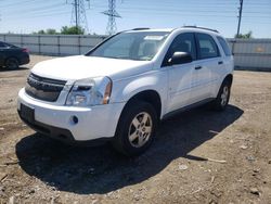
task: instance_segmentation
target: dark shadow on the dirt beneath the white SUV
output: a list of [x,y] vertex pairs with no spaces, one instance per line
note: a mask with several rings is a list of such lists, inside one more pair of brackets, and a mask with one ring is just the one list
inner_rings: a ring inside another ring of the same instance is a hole
[[[78,194],[107,193],[136,184],[159,174],[172,160],[216,136],[243,114],[229,105],[224,112],[198,107],[160,124],[152,146],[141,156],[125,157],[111,145],[78,148],[63,144],[39,133],[26,136],[16,144],[16,155],[26,174]],[[201,161],[201,160],[199,160]]]

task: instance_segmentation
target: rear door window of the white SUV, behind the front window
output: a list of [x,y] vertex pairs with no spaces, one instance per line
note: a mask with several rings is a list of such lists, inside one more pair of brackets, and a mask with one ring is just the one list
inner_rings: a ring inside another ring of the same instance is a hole
[[219,56],[217,43],[211,36],[207,34],[196,34],[198,59],[210,59]]

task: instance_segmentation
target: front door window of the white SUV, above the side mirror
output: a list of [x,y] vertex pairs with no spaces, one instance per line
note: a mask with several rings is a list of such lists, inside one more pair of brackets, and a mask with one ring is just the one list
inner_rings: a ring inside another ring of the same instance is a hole
[[193,60],[196,60],[196,46],[194,34],[180,34],[173,39],[164,59],[163,66],[168,63],[168,60],[173,55],[175,52],[188,52],[191,54]]

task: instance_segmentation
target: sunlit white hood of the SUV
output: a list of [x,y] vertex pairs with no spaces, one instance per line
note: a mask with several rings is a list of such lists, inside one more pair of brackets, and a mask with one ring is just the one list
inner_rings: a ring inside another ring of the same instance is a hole
[[31,72],[36,75],[60,80],[108,76],[113,80],[152,69],[150,61],[132,61],[96,56],[66,56],[38,63]]

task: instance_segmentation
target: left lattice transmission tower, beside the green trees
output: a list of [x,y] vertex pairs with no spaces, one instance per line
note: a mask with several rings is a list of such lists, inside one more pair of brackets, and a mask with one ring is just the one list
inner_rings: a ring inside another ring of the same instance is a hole
[[85,2],[89,3],[89,0],[73,0],[70,3],[73,5],[70,24],[75,25],[77,30],[79,27],[81,27],[87,34],[89,34]]

